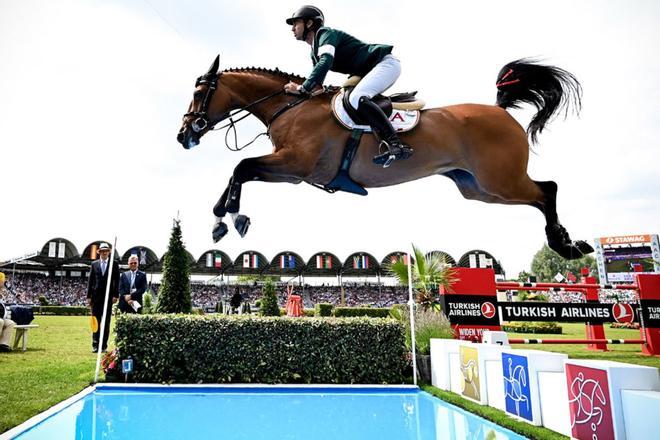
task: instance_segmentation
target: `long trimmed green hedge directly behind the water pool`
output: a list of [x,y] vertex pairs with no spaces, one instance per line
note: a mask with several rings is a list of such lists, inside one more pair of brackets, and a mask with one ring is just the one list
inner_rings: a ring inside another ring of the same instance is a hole
[[116,344],[151,383],[402,383],[406,348],[392,319],[125,315]]

